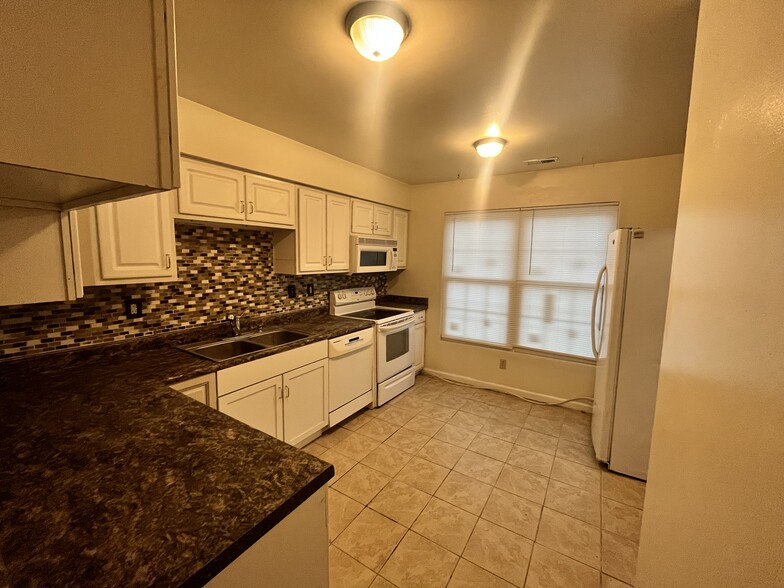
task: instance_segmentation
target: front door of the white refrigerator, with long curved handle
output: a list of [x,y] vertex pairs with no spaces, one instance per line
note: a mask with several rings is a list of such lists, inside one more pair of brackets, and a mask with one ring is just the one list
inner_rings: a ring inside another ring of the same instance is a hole
[[[599,306],[598,301],[601,298],[603,298],[603,304],[597,308],[595,313],[596,321],[601,324],[596,328],[598,353],[593,392],[591,437],[596,459],[603,462],[610,459],[610,444],[612,442],[629,237],[629,229],[618,229],[610,233],[607,239],[606,279],[602,295],[597,296],[597,306]],[[601,283],[599,287],[601,288]]]

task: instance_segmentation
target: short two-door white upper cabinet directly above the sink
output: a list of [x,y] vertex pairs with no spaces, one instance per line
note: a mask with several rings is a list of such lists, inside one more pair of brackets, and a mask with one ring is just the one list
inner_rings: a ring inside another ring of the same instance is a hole
[[182,159],[179,218],[293,229],[294,185],[231,168]]

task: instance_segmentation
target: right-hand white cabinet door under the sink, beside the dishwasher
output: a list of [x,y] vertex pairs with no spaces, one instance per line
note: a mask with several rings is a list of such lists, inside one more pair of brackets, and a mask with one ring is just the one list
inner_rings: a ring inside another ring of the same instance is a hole
[[283,440],[301,444],[329,423],[327,361],[283,374]]

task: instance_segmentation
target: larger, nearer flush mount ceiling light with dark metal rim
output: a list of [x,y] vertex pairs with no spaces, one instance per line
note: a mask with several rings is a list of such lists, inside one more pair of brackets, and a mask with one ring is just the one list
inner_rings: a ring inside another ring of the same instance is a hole
[[411,30],[411,21],[392,2],[361,2],[346,15],[346,32],[362,57],[386,61],[392,57]]

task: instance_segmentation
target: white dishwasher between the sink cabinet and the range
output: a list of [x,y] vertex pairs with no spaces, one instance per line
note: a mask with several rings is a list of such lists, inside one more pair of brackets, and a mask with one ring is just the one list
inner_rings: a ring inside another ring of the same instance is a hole
[[329,426],[373,403],[375,327],[329,340]]

